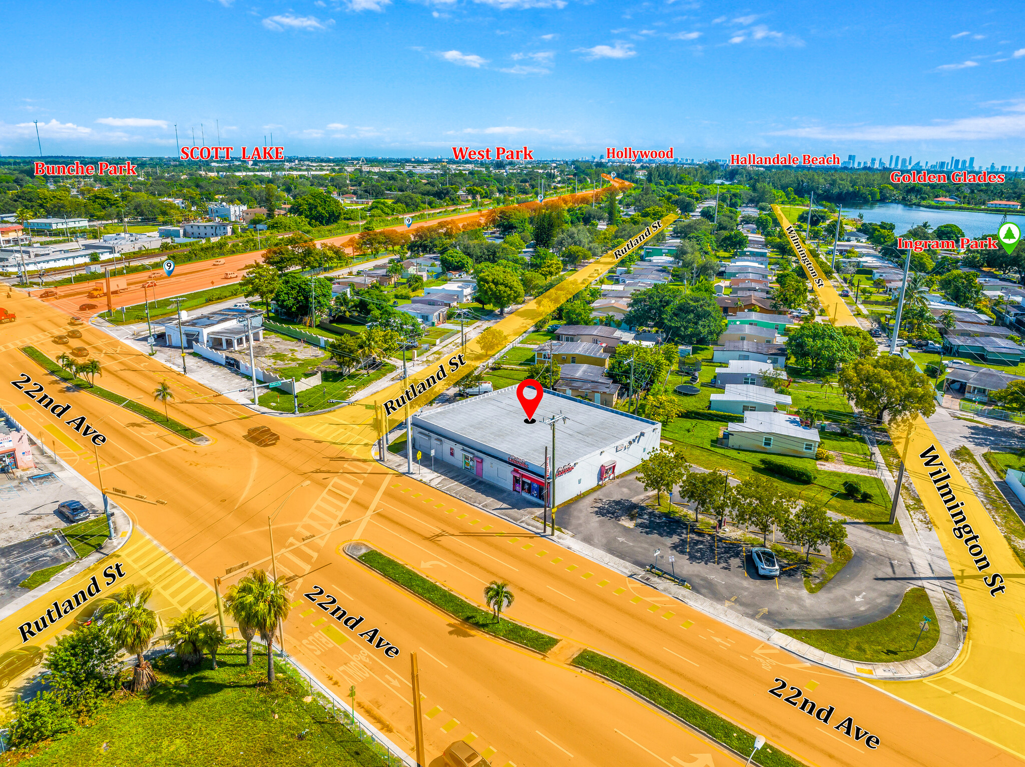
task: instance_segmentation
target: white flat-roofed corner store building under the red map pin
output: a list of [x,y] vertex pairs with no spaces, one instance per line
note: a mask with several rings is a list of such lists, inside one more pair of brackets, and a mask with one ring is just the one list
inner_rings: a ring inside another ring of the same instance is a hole
[[[555,505],[634,468],[658,450],[662,425],[628,413],[545,390],[524,423],[516,387],[499,389],[413,416],[420,461],[457,466],[485,481],[544,503],[545,448],[551,457],[556,422]],[[566,419],[565,422],[563,419]]]

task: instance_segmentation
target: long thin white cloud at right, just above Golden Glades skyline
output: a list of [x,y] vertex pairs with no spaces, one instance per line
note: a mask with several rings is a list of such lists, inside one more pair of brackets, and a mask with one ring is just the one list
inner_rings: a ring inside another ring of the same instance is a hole
[[855,127],[811,127],[776,131],[774,136],[855,141],[985,141],[1025,138],[1025,102],[1008,109],[1015,114],[967,117],[937,121],[934,125],[878,125]]

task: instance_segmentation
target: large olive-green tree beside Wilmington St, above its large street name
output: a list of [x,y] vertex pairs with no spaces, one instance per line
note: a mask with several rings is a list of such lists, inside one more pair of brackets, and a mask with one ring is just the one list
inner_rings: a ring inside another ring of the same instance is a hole
[[878,423],[936,412],[936,389],[914,361],[896,354],[856,359],[839,375],[844,394]]

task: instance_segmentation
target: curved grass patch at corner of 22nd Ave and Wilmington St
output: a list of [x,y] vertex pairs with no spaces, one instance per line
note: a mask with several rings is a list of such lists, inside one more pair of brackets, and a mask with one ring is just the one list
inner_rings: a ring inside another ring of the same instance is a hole
[[[912,650],[922,615],[932,621]],[[780,629],[794,639],[849,661],[887,663],[925,655],[940,638],[936,612],[925,589],[908,589],[892,615],[857,629]]]

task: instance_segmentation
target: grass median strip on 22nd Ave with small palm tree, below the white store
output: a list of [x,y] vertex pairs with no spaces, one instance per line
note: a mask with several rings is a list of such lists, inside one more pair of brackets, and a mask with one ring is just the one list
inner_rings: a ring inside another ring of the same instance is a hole
[[[501,535],[501,534],[499,534]],[[517,644],[530,647],[538,652],[547,652],[559,640],[539,631],[534,631],[504,617],[495,621],[490,610],[470,604],[451,591],[442,588],[409,567],[384,556],[378,551],[368,551],[360,556],[360,561],[368,567],[380,572],[385,578],[395,581],[400,586],[412,591],[433,605],[451,613],[460,621],[471,625],[475,629],[508,639]]]

